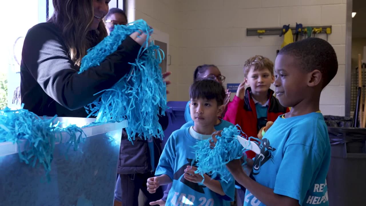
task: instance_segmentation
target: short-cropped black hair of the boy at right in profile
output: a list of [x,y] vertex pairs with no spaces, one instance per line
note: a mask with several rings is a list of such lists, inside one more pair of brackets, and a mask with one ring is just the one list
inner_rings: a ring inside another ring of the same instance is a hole
[[279,55],[292,55],[306,72],[319,70],[322,74],[322,88],[329,84],[338,70],[337,55],[332,45],[321,38],[306,38],[283,47]]

